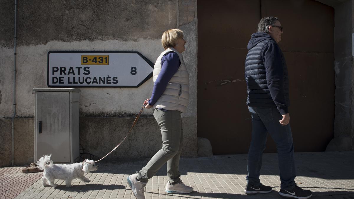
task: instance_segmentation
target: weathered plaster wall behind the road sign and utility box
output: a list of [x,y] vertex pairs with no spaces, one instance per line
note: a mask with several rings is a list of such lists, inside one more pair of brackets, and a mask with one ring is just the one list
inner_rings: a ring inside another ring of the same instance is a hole
[[[13,115],[14,6],[12,0],[0,4],[0,18],[6,22],[0,27],[0,166],[6,166],[12,156],[11,119],[6,118]],[[182,114],[182,154],[197,155],[195,0],[19,1],[17,12],[15,126],[21,127],[15,127],[15,137],[22,138],[15,146],[26,146],[26,152],[15,147],[15,165],[34,162],[32,90],[47,87],[48,51],[139,51],[154,63],[164,50],[161,35],[170,28],[182,29],[187,40],[183,56],[190,101]],[[125,137],[152,88],[152,78],[138,88],[80,88],[80,144],[99,157],[108,153]],[[151,157],[160,147],[159,127],[152,110],[145,109],[129,139],[109,158]]]

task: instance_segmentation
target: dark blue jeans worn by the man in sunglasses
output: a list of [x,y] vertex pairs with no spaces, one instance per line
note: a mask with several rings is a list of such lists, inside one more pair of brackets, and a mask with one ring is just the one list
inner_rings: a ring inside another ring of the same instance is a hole
[[259,186],[261,183],[259,171],[262,167],[262,155],[269,132],[278,150],[280,188],[294,188],[296,174],[290,124],[282,126],[279,123],[282,116],[275,107],[249,107],[249,111],[252,114],[252,141],[248,153],[247,183],[253,186]]

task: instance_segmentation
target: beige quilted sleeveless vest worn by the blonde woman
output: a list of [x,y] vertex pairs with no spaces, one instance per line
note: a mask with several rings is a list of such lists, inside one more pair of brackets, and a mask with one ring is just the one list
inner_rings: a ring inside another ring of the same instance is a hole
[[157,58],[154,66],[154,83],[161,72],[161,59],[166,53],[174,51],[181,61],[177,72],[172,76],[171,80],[166,86],[164,93],[153,105],[153,108],[164,108],[166,110],[179,110],[180,112],[185,112],[187,109],[188,98],[189,98],[189,75],[183,57],[176,49],[170,48],[166,49],[161,55]]

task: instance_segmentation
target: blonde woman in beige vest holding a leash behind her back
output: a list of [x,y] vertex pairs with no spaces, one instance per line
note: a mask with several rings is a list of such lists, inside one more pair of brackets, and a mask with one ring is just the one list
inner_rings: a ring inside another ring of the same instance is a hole
[[154,118],[161,128],[162,148],[149,163],[136,174],[127,177],[136,198],[145,198],[144,189],[162,165],[167,162],[166,193],[190,193],[192,187],[183,184],[179,173],[179,157],[183,146],[181,113],[185,112],[189,97],[189,76],[181,53],[186,41],[179,29],[162,34],[165,51],[154,66],[154,88],[151,98],[144,101],[145,108],[153,108]]

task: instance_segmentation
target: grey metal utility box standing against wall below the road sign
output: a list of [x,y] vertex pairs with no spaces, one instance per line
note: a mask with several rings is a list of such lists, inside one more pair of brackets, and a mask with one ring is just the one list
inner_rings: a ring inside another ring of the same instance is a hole
[[34,88],[34,159],[50,155],[54,163],[79,160],[80,89]]

